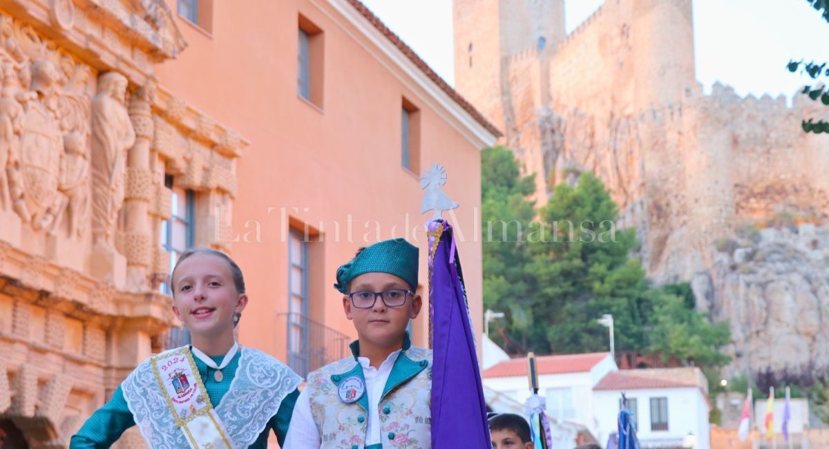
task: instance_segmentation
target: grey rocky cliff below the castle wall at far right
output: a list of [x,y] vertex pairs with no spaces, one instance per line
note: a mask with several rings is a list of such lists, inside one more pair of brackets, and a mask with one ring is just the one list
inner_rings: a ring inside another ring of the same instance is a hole
[[730,369],[829,367],[829,230],[747,228],[712,252],[713,268],[692,287],[701,311],[730,320]]

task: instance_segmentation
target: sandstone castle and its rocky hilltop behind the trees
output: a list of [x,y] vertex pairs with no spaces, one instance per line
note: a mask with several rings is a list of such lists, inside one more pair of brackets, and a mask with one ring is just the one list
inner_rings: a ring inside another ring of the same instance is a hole
[[829,366],[829,137],[800,128],[826,113],[802,95],[703,94],[691,0],[605,0],[570,35],[564,3],[453,6],[456,89],[536,174],[537,203],[593,171],[648,275],[691,282],[700,311],[730,320],[732,369]]

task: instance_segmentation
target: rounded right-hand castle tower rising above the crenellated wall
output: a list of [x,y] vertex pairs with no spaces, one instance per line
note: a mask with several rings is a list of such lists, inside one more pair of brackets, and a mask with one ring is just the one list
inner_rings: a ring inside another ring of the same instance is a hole
[[633,0],[635,108],[677,103],[696,84],[691,0]]

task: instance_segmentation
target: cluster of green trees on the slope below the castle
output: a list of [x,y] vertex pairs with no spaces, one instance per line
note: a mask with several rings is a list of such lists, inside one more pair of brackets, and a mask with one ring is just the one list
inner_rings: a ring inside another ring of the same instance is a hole
[[690,286],[650,287],[630,257],[635,230],[616,228],[617,206],[598,178],[583,173],[575,186],[555,186],[533,220],[525,199],[533,180],[520,176],[509,150],[484,150],[482,171],[484,306],[506,313],[490,327],[511,336],[508,351],[605,351],[608,331],[596,320],[609,313],[618,351],[696,365],[729,361],[718,352],[730,339],[728,324],[698,313]]

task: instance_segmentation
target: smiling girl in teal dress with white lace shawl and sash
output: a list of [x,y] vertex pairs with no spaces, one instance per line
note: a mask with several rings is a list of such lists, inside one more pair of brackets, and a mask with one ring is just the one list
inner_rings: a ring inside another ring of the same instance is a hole
[[109,447],[133,425],[153,448],[264,449],[271,430],[282,444],[302,379],[236,343],[248,302],[239,266],[225,253],[191,249],[178,258],[170,287],[192,344],[138,365],[70,447]]

